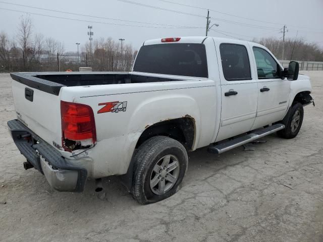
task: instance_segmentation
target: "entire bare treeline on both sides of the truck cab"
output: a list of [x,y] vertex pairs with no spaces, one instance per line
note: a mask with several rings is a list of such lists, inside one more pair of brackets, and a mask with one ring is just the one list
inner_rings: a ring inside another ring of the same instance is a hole
[[[293,52],[292,59],[296,61],[323,62],[323,49],[302,38],[285,42],[275,38],[253,41],[266,46],[279,59],[290,59]],[[14,38],[0,33],[0,72],[78,71],[79,67],[92,67],[93,71],[130,71],[136,52],[131,45],[122,45],[112,38],[80,45],[79,53],[65,52],[63,42],[36,33],[30,17],[22,16]]]

